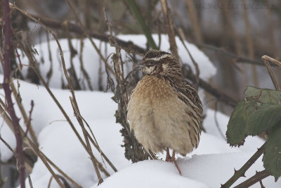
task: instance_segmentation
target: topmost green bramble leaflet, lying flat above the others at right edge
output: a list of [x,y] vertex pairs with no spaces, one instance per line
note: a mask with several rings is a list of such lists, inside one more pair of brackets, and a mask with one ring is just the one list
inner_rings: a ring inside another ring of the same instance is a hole
[[261,103],[281,104],[281,92],[272,89],[260,89],[248,86],[244,94],[247,101],[260,101]]

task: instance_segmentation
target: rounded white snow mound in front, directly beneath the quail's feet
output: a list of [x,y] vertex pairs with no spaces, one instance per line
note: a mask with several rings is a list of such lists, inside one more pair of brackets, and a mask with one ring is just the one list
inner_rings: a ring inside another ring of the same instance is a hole
[[178,175],[174,163],[164,161],[142,161],[129,165],[108,177],[100,186],[91,188],[170,188],[170,187],[194,187],[207,188],[207,184]]

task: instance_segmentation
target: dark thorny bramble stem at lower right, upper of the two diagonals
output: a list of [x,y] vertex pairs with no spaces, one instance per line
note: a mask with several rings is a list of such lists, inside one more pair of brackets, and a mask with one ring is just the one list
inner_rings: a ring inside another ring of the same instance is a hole
[[265,147],[266,143],[264,143],[239,170],[235,170],[233,177],[230,177],[225,184],[221,184],[221,188],[228,188],[233,185],[240,177],[244,177],[246,171],[251,167],[251,165],[253,165],[254,162],[265,152]]

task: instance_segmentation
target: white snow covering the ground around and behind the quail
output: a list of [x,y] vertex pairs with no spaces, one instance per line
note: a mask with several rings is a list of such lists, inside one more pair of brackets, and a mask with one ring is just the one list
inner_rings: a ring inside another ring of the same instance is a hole
[[[157,39],[157,36],[154,36]],[[132,40],[138,45],[145,46],[145,38],[141,35],[123,35],[122,39]],[[72,41],[73,44],[79,44],[77,40]],[[98,41],[96,41],[98,42]],[[97,89],[98,79],[98,56],[91,44],[85,40],[84,42],[84,66],[91,73],[91,80],[94,89]],[[67,67],[69,67],[69,49],[66,40],[61,40],[63,46]],[[186,43],[188,44],[188,43]],[[103,44],[104,45],[104,44]],[[46,76],[48,72],[48,50],[46,44],[35,46],[40,56],[43,56],[45,63],[40,67],[41,73]],[[75,46],[75,45],[74,45]],[[216,69],[211,64],[209,58],[199,51],[196,46],[188,44],[188,48],[200,65],[201,77],[207,80],[215,74]],[[51,42],[51,50],[53,51],[53,77],[50,85],[52,92],[57,97],[60,104],[63,106],[70,119],[74,123],[79,134],[82,135],[81,128],[73,115],[72,106],[70,104],[70,92],[68,90],[59,89],[62,75],[60,72],[60,61],[57,57],[58,51],[54,42]],[[107,46],[107,54],[110,54],[114,49]],[[167,37],[162,36],[162,50],[168,51],[169,44]],[[178,41],[178,50],[181,59],[184,63],[188,63],[192,67],[190,58],[185,49]],[[68,55],[67,55],[68,54]],[[124,57],[126,55],[124,54]],[[74,62],[79,62],[76,59]],[[27,60],[22,58],[22,63],[27,64]],[[79,70],[79,63],[76,66]],[[104,75],[105,76],[105,75]],[[81,82],[84,82],[83,75],[79,73]],[[0,80],[3,76],[0,75]],[[105,84],[104,79],[103,84]],[[51,96],[48,95],[46,89],[35,84],[20,82],[20,94],[22,96],[22,104],[26,110],[30,110],[30,101],[34,101],[34,110],[32,112],[32,125],[39,139],[39,148],[48,158],[50,158],[59,168],[67,175],[72,177],[82,187],[97,187],[97,177],[93,165],[89,159],[89,155],[84,151],[83,146],[79,144],[77,137],[74,135],[70,125],[65,121],[63,114],[55,105]],[[132,164],[131,161],[124,157],[124,148],[122,145],[122,136],[119,133],[121,125],[115,123],[115,111],[117,104],[112,101],[112,93],[77,91],[77,102],[81,115],[89,123],[93,133],[98,140],[100,148],[105,155],[110,158],[110,161],[116,166],[118,172],[114,173],[110,166],[106,164],[106,170],[110,173],[110,177],[106,178],[105,182],[99,187],[220,187],[221,183],[226,182],[234,173],[234,168],[240,168],[256,151],[256,148],[263,144],[263,140],[258,137],[249,137],[246,139],[245,145],[237,148],[231,148],[218,132],[214,117],[218,120],[218,126],[222,132],[226,132],[226,125],[229,117],[221,113],[214,113],[211,109],[205,108],[206,118],[204,119],[204,128],[207,132],[202,132],[200,145],[195,151],[189,153],[188,156],[177,156],[178,165],[181,168],[183,175],[178,175],[173,163],[164,161],[142,161]],[[4,98],[3,90],[0,90],[0,97]],[[204,97],[201,94],[201,97]],[[17,114],[20,117],[20,113]],[[21,120],[22,123],[22,120]],[[15,139],[13,133],[5,123],[1,125],[1,137],[15,148]],[[6,146],[0,142],[1,161],[7,161],[11,158],[12,153],[8,151]],[[93,147],[93,153],[101,161],[100,154]],[[159,158],[164,158],[164,153],[159,153]],[[261,158],[246,173],[247,177],[255,174],[256,170],[262,170],[263,165]],[[32,174],[30,175],[33,187],[47,187],[51,178],[51,174],[44,164],[38,160],[35,163]],[[237,183],[246,180],[240,178]],[[236,184],[237,184],[236,183]],[[27,187],[29,185],[26,181]],[[266,187],[280,187],[281,182],[274,182],[273,177],[268,177],[263,180]],[[52,181],[51,187],[59,187],[55,180]],[[260,187],[259,184],[253,187]]]

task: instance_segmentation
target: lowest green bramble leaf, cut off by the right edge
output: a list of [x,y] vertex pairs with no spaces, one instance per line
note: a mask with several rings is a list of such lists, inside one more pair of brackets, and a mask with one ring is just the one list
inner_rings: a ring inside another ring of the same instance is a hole
[[266,143],[266,153],[263,155],[263,166],[277,179],[281,176],[281,125],[270,132]]

